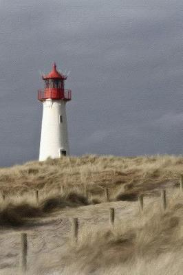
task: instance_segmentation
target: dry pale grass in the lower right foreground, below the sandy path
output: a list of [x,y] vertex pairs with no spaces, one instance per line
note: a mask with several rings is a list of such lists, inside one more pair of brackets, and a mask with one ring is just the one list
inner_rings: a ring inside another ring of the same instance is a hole
[[[55,274],[62,275],[182,274],[182,198],[182,195],[174,195],[166,212],[162,212],[159,203],[153,203],[152,208],[151,201],[143,215],[136,212],[134,219],[124,217],[123,222],[117,221],[114,230],[107,225],[81,228],[78,245],[68,245],[66,251],[60,252],[61,264],[57,260],[50,272],[57,270]],[[38,274],[45,274],[41,273],[42,268]]]

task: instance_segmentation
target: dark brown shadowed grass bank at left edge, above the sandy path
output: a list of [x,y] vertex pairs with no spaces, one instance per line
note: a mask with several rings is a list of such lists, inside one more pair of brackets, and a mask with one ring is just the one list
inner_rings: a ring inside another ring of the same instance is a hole
[[86,197],[70,192],[67,196],[47,197],[39,203],[4,203],[0,209],[0,226],[20,227],[32,225],[32,218],[46,217],[50,213],[63,208],[76,208],[87,206],[89,201]]

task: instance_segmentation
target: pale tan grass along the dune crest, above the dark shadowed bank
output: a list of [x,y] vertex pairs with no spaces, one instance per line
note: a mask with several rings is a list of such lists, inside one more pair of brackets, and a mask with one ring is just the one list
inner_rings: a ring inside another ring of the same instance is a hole
[[105,199],[103,188],[107,187],[114,199],[119,192],[149,192],[167,181],[176,184],[182,174],[182,156],[84,155],[0,168],[0,188],[8,196],[34,190],[39,190],[41,196],[58,190],[84,193],[87,188],[91,197]]

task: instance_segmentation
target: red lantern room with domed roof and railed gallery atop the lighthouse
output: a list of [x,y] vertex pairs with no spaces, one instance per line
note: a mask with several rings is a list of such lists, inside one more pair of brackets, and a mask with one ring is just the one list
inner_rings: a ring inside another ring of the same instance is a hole
[[45,89],[38,91],[39,100],[71,100],[72,91],[64,88],[64,81],[67,79],[67,76],[57,71],[55,63],[52,72],[42,76],[42,78],[45,81]]

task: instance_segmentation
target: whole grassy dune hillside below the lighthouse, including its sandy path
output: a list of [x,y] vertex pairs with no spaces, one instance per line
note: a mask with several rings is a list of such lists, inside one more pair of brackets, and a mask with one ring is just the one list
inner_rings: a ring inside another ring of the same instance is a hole
[[[0,274],[19,274],[18,255],[10,257],[3,234],[22,230],[30,236],[28,274],[182,274],[182,175],[183,157],[174,155],[85,155],[1,168]],[[163,211],[160,190],[165,188]],[[79,219],[75,245],[72,217]],[[12,245],[11,253],[17,249]]]

